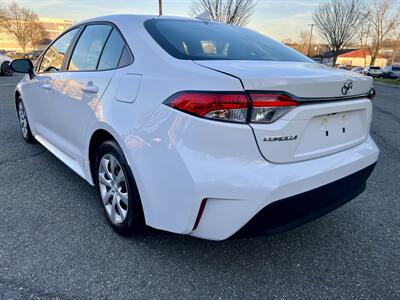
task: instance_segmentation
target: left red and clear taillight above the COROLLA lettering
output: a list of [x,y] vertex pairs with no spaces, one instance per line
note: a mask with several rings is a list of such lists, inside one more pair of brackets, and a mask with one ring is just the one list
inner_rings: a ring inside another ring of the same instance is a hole
[[197,117],[246,123],[271,123],[298,105],[282,93],[182,92],[164,104]]

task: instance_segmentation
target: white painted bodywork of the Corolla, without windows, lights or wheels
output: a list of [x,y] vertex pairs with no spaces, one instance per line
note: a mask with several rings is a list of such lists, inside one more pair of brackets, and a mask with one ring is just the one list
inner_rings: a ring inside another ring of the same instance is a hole
[[[134,55],[132,65],[106,72],[39,75],[33,80],[25,76],[17,86],[33,134],[89,183],[93,184],[88,161],[92,135],[106,130],[115,138],[135,176],[149,226],[225,239],[269,203],[376,162],[379,151],[369,137],[369,100],[300,106],[268,125],[211,121],[162,104],[185,90],[283,89],[301,97],[332,97],[338,93],[339,83],[343,85],[349,78],[359,82],[354,93],[365,93],[372,86],[367,77],[331,73],[314,64],[251,62],[251,70],[246,72],[248,64],[244,62],[203,61],[207,65],[204,67],[177,60],[145,31],[143,22],[149,18],[153,17],[120,15],[91,20],[118,26]],[[223,65],[240,79],[210,69],[222,69]],[[273,72],[265,73],[266,68]],[[304,72],[308,75],[302,77]],[[47,81],[51,81],[48,90],[43,89]],[[82,92],[89,81],[98,86],[94,95]],[[327,81],[330,84],[324,85]],[[301,135],[313,117],[340,111],[364,113],[354,133],[359,140],[352,145],[334,151],[324,149],[323,155],[315,158],[309,154],[318,150],[312,144],[315,133],[310,131],[296,146],[265,146],[259,150],[259,139],[265,135],[283,135],[292,130]],[[266,160],[266,154],[279,164]],[[209,201],[193,231],[204,198]]]

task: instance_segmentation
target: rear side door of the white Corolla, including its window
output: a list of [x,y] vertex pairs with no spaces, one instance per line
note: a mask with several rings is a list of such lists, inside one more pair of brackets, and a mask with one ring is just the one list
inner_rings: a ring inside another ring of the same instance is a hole
[[54,144],[72,159],[84,164],[85,129],[97,103],[118,67],[125,41],[110,24],[89,24],[71,52],[65,72],[54,81],[56,101],[51,127]]

